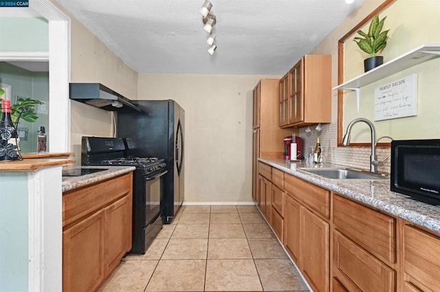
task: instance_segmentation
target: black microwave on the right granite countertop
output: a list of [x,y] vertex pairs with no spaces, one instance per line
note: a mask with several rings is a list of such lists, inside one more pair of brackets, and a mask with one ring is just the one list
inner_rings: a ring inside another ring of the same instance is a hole
[[391,142],[391,191],[440,205],[440,139]]

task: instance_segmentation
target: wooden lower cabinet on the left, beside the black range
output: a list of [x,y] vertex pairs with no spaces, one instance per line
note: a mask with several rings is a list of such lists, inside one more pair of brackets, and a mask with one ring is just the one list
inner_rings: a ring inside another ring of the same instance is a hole
[[132,173],[63,194],[63,291],[95,291],[131,250]]

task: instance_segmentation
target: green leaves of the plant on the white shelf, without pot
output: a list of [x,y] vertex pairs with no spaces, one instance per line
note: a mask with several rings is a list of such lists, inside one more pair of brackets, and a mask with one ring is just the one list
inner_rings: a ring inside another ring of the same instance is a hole
[[368,34],[362,32],[362,30],[358,30],[358,34],[360,34],[362,38],[359,36],[354,38],[354,41],[358,44],[360,49],[368,53],[371,57],[375,57],[378,51],[386,47],[386,40],[390,30],[388,29],[382,32],[385,19],[386,16],[380,20],[379,14],[376,14],[370,23]]

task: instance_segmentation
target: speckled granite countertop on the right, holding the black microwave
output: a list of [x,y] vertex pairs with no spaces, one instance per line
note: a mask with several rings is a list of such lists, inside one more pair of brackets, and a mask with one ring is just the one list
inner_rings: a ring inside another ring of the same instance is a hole
[[[300,170],[300,167],[306,167],[304,162],[290,162],[281,158],[259,158],[259,160],[355,201],[440,233],[440,206],[418,202],[406,195],[390,191],[389,178],[382,180],[331,180]],[[344,166],[327,164],[322,167]]]

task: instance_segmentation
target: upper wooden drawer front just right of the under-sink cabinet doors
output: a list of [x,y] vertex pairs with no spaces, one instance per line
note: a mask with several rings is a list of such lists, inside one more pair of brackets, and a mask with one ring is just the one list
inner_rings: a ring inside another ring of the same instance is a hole
[[377,258],[386,263],[396,262],[393,217],[334,195],[333,223],[336,229]]

